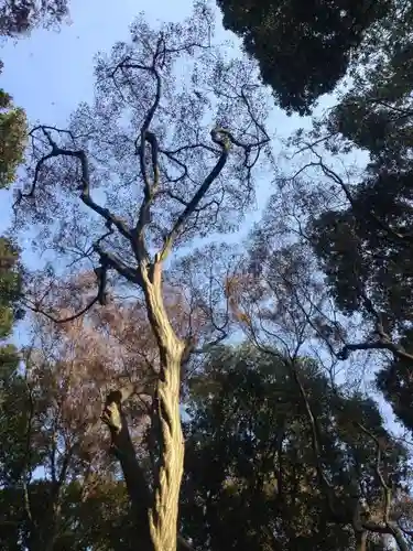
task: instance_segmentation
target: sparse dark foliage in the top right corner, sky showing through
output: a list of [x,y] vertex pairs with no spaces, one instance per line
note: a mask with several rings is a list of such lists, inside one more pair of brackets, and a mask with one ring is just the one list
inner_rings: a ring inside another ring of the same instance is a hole
[[[398,6],[398,2],[394,2]],[[333,109],[329,132],[339,132],[347,143],[369,152],[370,170],[409,170],[413,145],[413,6],[401,2],[389,18],[385,39],[369,69],[360,72],[354,87]]]

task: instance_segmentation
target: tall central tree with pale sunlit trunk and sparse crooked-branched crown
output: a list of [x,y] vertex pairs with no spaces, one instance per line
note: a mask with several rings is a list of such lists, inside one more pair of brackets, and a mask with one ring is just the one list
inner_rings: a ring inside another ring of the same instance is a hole
[[[148,519],[142,549],[176,548],[181,364],[193,346],[167,316],[163,264],[173,247],[237,227],[253,197],[253,166],[269,142],[253,66],[220,55],[211,31],[203,6],[185,24],[159,32],[138,20],[131,43],[99,57],[95,102],[80,106],[69,129],[33,129],[18,193],[20,222],[45,229],[42,247],[68,256],[80,249],[84,266],[85,258],[94,261],[98,292],[90,304],[106,302],[111,272],[144,298],[160,359],[152,495],[122,414],[130,389],[110,392],[104,412],[137,516]],[[181,78],[180,60],[191,63],[191,78]]]

